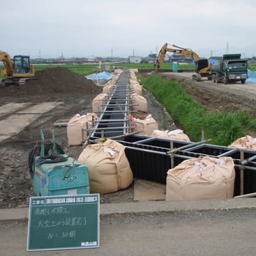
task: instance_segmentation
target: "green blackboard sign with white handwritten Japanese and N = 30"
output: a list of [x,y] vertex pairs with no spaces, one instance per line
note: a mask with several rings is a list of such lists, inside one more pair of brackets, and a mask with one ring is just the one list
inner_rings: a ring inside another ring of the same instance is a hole
[[27,251],[99,247],[99,194],[31,197]]

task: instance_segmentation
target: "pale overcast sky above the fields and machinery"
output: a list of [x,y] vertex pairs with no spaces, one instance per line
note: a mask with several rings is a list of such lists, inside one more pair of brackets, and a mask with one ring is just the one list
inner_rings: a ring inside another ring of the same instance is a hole
[[255,0],[0,2],[0,50],[11,56],[146,57],[166,42],[201,57],[256,55]]

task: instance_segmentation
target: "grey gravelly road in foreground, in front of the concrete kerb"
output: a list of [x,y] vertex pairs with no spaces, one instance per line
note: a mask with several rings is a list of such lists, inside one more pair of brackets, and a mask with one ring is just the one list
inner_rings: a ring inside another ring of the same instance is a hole
[[[255,209],[113,214],[100,218],[100,247],[33,255],[255,255]],[[27,223],[1,223],[1,255],[29,255]]]

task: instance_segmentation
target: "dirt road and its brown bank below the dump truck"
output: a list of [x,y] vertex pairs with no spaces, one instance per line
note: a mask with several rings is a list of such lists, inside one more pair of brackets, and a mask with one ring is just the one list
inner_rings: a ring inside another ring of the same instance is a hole
[[193,72],[163,72],[166,79],[178,79],[186,91],[208,109],[237,111],[244,109],[256,117],[256,84],[240,82],[223,84],[213,83],[203,78],[193,81]]

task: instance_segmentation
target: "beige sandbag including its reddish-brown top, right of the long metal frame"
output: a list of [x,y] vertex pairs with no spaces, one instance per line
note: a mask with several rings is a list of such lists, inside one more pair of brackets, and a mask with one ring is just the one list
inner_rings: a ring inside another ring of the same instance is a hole
[[150,136],[153,130],[158,130],[158,122],[152,117],[150,113],[132,114],[128,119],[131,120],[131,125],[135,124],[135,131],[137,134]]

